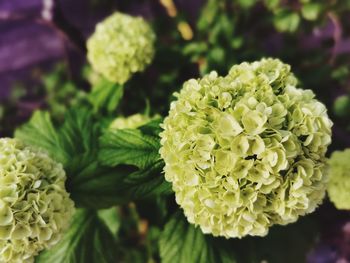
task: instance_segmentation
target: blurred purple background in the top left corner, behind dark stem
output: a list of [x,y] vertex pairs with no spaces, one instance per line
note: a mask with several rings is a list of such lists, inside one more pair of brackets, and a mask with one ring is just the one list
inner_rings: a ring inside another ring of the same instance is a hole
[[[92,10],[84,0],[60,1],[66,20],[88,36],[106,12]],[[49,68],[74,54],[84,53],[70,43],[53,21],[51,0],[0,0],[0,100],[18,81],[33,81],[35,70]]]

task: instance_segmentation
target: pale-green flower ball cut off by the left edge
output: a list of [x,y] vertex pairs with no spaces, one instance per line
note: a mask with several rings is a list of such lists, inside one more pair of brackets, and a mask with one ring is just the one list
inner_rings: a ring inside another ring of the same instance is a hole
[[0,139],[0,262],[33,262],[74,212],[62,165],[16,139]]

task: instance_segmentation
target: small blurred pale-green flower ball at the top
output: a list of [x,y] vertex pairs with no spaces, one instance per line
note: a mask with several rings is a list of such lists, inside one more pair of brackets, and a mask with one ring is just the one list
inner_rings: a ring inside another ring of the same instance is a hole
[[116,12],[97,24],[87,41],[87,58],[96,72],[123,84],[151,63],[154,41],[144,19]]

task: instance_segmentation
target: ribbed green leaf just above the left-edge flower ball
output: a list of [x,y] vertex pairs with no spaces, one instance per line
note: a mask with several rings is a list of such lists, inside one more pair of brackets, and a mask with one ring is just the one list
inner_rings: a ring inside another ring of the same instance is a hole
[[67,153],[60,146],[59,135],[48,112],[35,111],[29,122],[15,131],[15,137],[47,151],[61,163],[67,160]]

